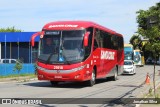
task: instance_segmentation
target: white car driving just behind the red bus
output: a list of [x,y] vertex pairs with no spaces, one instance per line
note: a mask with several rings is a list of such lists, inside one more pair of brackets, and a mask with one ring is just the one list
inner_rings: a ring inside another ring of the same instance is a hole
[[136,66],[132,60],[124,60],[123,74],[136,74]]

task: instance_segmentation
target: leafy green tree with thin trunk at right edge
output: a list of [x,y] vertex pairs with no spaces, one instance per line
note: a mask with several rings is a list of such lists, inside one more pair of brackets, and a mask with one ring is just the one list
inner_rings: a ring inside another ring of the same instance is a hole
[[[150,7],[148,10],[137,11],[137,22],[139,24],[138,34],[144,38],[148,38],[149,41],[145,45],[146,50],[150,50],[153,53],[156,61],[157,56],[160,55],[160,3],[156,6]],[[155,91],[155,62],[153,71],[153,86],[154,95]]]

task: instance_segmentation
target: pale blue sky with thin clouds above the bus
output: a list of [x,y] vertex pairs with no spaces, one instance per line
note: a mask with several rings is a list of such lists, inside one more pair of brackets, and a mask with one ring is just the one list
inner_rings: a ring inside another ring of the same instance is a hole
[[136,11],[159,0],[0,0],[0,28],[41,31],[53,21],[93,21],[124,36],[128,43],[137,31]]

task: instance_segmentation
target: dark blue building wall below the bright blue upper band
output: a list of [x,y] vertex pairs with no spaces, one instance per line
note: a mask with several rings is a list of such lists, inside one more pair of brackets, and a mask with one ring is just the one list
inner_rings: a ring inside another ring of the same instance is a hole
[[38,57],[38,42],[32,48],[29,42],[2,42],[1,59],[20,59],[23,63],[34,63]]

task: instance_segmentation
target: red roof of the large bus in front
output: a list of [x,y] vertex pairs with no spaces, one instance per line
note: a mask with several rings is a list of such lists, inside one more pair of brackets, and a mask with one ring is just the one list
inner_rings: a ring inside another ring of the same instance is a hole
[[76,29],[85,29],[88,27],[95,27],[111,34],[116,34],[122,36],[121,34],[108,29],[104,26],[96,24],[91,21],[56,21],[47,23],[42,30],[76,30]]

